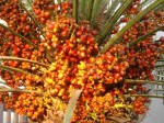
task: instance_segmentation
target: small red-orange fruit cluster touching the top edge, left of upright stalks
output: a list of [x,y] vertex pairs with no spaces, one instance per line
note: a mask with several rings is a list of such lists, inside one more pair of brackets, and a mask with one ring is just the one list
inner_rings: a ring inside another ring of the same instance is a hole
[[[59,11],[59,8],[61,11]],[[33,3],[33,10],[36,14],[36,20],[43,25],[49,23],[55,15],[66,15],[72,12],[72,3],[69,1],[55,4],[51,0],[35,0]]]

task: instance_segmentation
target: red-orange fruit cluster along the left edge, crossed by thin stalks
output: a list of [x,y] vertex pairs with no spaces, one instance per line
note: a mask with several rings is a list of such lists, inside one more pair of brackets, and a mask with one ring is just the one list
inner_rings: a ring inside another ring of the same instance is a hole
[[[40,43],[40,41],[38,40],[40,34],[38,33],[36,25],[32,22],[28,15],[24,13],[24,10],[22,9],[17,0],[3,1],[2,3],[0,3],[0,19],[4,20],[8,23],[8,27],[10,30],[26,37],[26,40],[31,41],[34,45]],[[21,38],[17,35],[14,35],[3,27],[0,27],[0,32],[1,56],[16,56],[32,60],[47,62],[46,58],[43,59],[44,54],[42,53],[42,51],[36,51],[35,47],[25,42],[25,40]],[[38,66],[16,60],[5,60],[3,62],[3,65],[22,68],[24,70],[26,69],[28,71],[32,71],[32,67],[35,68],[35,71],[37,71],[38,69]],[[8,72],[2,70],[1,77],[7,80],[8,86],[12,88],[24,86],[24,83],[20,81],[24,81],[25,76],[20,72]]]

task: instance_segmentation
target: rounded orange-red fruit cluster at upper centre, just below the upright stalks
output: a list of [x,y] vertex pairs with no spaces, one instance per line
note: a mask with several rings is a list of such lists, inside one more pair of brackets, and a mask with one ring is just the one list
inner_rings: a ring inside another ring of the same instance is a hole
[[79,63],[96,55],[98,52],[95,43],[95,31],[91,31],[89,26],[77,25],[70,18],[60,18],[51,22],[45,29],[44,46],[52,51],[56,59],[68,59],[72,63]]

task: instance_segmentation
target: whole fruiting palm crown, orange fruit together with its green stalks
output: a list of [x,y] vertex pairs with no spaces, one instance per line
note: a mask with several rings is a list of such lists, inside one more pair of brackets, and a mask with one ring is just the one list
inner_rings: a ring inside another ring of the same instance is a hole
[[7,109],[32,121],[62,121],[77,97],[72,123],[132,122],[148,111],[143,85],[156,82],[152,71],[164,53],[163,37],[153,41],[164,29],[164,0],[147,9],[147,0],[26,3],[0,1],[8,23],[0,23],[0,102]]

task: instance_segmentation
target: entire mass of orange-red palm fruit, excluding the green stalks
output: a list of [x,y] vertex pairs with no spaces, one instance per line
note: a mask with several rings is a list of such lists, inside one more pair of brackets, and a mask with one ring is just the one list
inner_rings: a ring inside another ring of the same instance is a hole
[[[124,13],[120,23],[128,22],[130,16],[137,14],[140,11],[138,5],[140,0],[134,0],[130,9]],[[98,31],[93,30],[87,21],[75,23],[68,15],[72,13],[71,2],[55,4],[51,0],[34,1],[34,12],[31,11],[31,14],[42,24],[40,27],[45,26],[42,30],[43,35],[23,9],[19,8],[21,5],[17,0],[3,0],[0,2],[0,18],[8,22],[11,30],[22,34],[37,47],[0,27],[0,56],[32,59],[48,67],[17,60],[2,63],[4,66],[31,72],[23,75],[0,70],[0,76],[7,85],[15,89],[11,94],[0,93],[0,101],[5,103],[8,109],[14,109],[16,113],[26,114],[39,122],[46,119],[45,115],[48,115],[57,100],[60,110],[65,112],[70,93],[75,88],[83,91],[74,110],[72,123],[104,123],[108,115],[124,113],[122,116],[127,118],[131,116],[129,110],[137,114],[148,110],[144,105],[148,102],[147,98],[139,97],[133,101],[124,97],[127,92],[141,93],[147,89],[142,85],[126,83],[125,80],[154,79],[151,72],[155,59],[161,58],[160,53],[164,53],[164,38],[153,42],[151,35],[136,45],[128,44],[160,26],[164,22],[161,12],[145,15],[122,35],[121,43],[101,54],[96,43]],[[117,33],[119,29],[119,25],[115,26],[112,34]],[[25,92],[16,90],[22,86]]]

